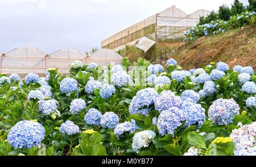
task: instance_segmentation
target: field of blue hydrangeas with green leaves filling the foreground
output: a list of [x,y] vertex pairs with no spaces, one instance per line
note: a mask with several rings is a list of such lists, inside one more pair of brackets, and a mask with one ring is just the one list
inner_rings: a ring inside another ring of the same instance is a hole
[[125,58],[0,77],[0,155],[256,155],[250,66]]

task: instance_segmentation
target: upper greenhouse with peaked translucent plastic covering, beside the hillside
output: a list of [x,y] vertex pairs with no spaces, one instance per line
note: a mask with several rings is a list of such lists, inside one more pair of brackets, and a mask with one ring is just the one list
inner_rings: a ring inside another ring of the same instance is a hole
[[118,51],[120,48],[125,48],[127,44],[136,44],[138,39],[143,36],[154,41],[159,39],[162,41],[164,39],[183,40],[184,32],[188,28],[196,26],[200,16],[207,16],[208,14],[208,10],[201,9],[188,15],[177,9],[176,6],[172,6],[110,36],[101,42],[101,46]]

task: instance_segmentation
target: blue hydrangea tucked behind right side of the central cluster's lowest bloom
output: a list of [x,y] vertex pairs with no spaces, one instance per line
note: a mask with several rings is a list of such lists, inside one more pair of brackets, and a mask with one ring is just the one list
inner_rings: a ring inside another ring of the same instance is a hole
[[187,112],[188,114],[188,119],[184,126],[191,126],[195,123],[198,123],[199,127],[202,126],[205,121],[205,109],[201,107],[201,105],[195,104],[193,102],[184,102],[182,103],[180,109]]

